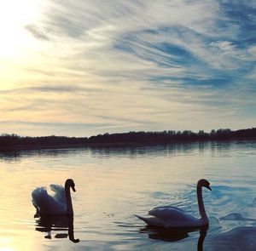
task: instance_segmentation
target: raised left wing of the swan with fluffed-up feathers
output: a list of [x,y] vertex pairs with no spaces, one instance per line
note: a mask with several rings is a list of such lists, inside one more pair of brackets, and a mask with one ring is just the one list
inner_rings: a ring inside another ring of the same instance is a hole
[[66,204],[49,196],[45,187],[38,187],[32,191],[32,203],[42,214],[63,214],[66,212]]

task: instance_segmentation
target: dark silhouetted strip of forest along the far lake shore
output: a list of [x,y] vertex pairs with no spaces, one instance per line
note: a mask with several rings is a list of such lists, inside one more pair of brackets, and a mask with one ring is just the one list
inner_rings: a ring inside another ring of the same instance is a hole
[[256,140],[256,128],[232,131],[229,128],[212,129],[210,133],[203,130],[195,133],[190,130],[160,132],[129,132],[119,134],[98,134],[91,137],[41,136],[23,137],[17,134],[1,134],[0,149],[39,149],[66,148],[97,145],[132,145],[132,144],[168,144],[175,142],[195,142],[210,140]]

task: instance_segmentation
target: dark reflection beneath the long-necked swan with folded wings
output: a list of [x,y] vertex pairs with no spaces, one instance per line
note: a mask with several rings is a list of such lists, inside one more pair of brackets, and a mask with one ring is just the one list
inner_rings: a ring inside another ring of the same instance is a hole
[[197,242],[197,250],[203,250],[203,242],[207,236],[208,226],[186,227],[186,228],[160,228],[147,226],[140,230],[142,233],[148,233],[148,238],[164,242],[177,242],[189,237],[189,232],[200,231]]

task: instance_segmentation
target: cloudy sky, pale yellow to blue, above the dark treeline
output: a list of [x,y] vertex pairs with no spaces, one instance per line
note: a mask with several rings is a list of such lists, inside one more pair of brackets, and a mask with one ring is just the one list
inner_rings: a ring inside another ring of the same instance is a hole
[[0,134],[256,126],[256,2],[0,3]]

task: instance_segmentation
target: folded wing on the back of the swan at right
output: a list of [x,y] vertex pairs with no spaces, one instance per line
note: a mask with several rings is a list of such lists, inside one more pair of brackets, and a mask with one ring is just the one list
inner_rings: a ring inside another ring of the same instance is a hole
[[180,218],[183,219],[184,216],[189,216],[183,209],[172,206],[153,208],[148,214],[163,220],[179,220]]

